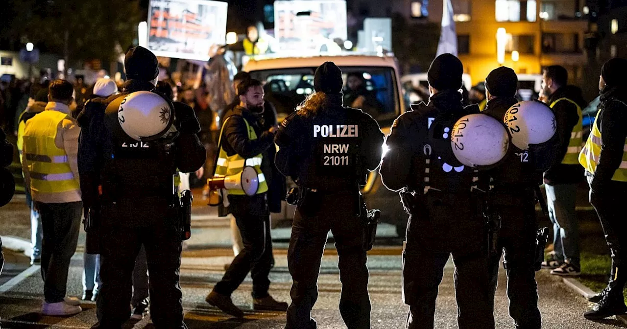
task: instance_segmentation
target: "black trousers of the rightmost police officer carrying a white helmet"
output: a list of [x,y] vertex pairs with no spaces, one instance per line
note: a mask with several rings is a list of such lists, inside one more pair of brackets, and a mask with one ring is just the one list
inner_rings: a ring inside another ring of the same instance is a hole
[[[511,197],[495,196],[495,199]],[[498,268],[503,249],[507,271],[509,314],[518,329],[540,329],[542,320],[538,309],[534,258],[537,224],[532,196],[519,199],[519,204],[496,204],[494,211],[501,216],[498,232],[498,252],[490,256],[490,285],[492,304],[497,290]]]

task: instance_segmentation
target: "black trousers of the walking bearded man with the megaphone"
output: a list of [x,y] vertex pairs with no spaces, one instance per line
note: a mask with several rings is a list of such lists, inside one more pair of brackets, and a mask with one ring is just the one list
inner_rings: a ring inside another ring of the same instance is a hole
[[240,229],[244,249],[233,259],[213,290],[221,295],[231,296],[250,272],[253,279],[253,298],[266,297],[270,288],[268,274],[272,268],[270,212],[266,194],[253,197],[229,196],[229,202]]

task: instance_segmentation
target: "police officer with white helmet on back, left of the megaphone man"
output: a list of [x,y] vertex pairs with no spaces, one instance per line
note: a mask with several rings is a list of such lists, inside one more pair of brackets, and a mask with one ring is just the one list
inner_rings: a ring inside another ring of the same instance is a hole
[[[152,322],[156,328],[186,328],[179,286],[180,203],[174,192],[173,175],[177,168],[194,172],[204,164],[204,147],[196,136],[200,130],[198,119],[192,108],[179,102],[173,103],[174,113],[170,111],[172,105],[160,107],[161,112],[157,113],[154,108],[134,108],[135,113],[149,113],[152,118],[142,120],[144,128],[168,122],[173,116],[177,137],[137,142],[130,135],[119,133],[121,125],[133,123],[129,116],[118,116],[120,103],[125,102],[122,109],[127,112],[131,103],[147,107],[149,102],[135,99],[134,95],[150,100],[157,97],[154,93],[146,96],[145,92],[154,89],[158,69],[153,53],[141,46],[131,48],[125,57],[129,80],[122,94],[90,102],[92,105],[87,104],[83,110],[88,128],[80,138],[78,165],[88,212],[86,229],[98,230],[102,262],[98,323],[92,328],[117,329],[129,319],[131,277],[142,244],[150,273]],[[172,104],[165,98],[159,99],[166,105]]]

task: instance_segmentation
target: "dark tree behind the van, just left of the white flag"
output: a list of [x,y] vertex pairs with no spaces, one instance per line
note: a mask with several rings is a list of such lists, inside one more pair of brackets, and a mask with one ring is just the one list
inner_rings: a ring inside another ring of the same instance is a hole
[[392,48],[405,74],[413,66],[426,71],[435,58],[440,41],[440,24],[409,23],[401,14],[392,18]]

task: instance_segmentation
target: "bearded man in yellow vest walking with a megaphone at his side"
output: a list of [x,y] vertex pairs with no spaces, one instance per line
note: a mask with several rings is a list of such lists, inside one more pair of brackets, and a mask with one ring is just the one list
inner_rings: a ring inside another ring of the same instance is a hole
[[253,279],[253,309],[285,311],[287,303],[274,300],[269,294],[268,274],[272,266],[272,240],[270,238],[270,211],[268,209],[268,184],[271,175],[266,151],[274,147],[277,126],[263,131],[261,122],[254,114],[263,110],[263,88],[258,80],[244,81],[238,88],[240,105],[230,110],[224,118],[220,135],[219,155],[215,176],[234,175],[242,172],[244,165],[255,167],[259,188],[254,196],[246,196],[242,190],[229,191],[231,212],[240,228],[244,249],[226,270],[222,280],[214,286],[206,301],[236,317],[244,312],[233,304],[231,294],[246,278]]

